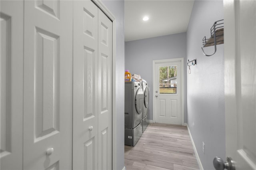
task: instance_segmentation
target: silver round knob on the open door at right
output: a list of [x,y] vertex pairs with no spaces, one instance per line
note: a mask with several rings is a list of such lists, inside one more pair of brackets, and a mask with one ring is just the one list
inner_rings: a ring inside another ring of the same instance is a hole
[[215,157],[213,160],[213,166],[216,170],[236,170],[235,163],[230,157],[227,157],[226,162],[224,162],[220,157]]

